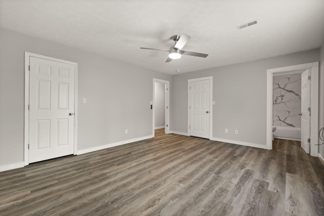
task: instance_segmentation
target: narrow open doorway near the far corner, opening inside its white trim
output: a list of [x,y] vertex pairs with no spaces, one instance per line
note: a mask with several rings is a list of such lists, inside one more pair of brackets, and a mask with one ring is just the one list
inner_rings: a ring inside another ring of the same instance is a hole
[[170,133],[170,82],[153,79],[153,124],[152,134],[155,130],[164,130]]

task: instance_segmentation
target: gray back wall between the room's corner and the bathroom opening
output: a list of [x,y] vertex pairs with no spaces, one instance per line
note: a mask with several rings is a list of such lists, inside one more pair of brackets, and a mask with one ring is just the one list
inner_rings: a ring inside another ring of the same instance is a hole
[[267,69],[314,61],[319,49],[173,76],[172,130],[187,133],[187,80],[213,76],[213,137],[266,145]]

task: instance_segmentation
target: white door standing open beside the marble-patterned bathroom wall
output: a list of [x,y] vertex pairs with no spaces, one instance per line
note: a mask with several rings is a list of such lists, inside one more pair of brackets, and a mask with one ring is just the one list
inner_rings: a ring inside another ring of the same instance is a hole
[[302,73],[302,97],[301,97],[301,147],[307,154],[310,152],[310,70]]

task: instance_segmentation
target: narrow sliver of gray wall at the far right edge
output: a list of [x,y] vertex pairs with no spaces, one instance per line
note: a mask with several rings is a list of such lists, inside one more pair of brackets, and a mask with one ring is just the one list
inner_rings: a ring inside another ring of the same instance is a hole
[[[319,65],[319,128],[322,127],[324,127],[324,42],[320,49]],[[319,141],[323,143],[323,141]],[[318,146],[318,153],[324,157],[324,145]]]

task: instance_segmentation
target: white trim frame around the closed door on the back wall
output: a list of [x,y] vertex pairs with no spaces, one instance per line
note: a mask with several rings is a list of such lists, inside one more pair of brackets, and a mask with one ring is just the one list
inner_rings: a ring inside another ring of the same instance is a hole
[[213,77],[203,77],[203,78],[196,78],[196,79],[190,79],[188,80],[188,125],[187,125],[187,131],[188,136],[190,136],[190,83],[195,81],[202,81],[202,80],[209,80],[209,139],[213,137]]

